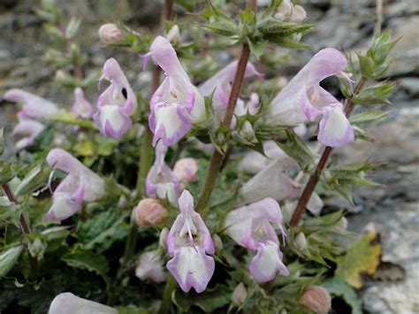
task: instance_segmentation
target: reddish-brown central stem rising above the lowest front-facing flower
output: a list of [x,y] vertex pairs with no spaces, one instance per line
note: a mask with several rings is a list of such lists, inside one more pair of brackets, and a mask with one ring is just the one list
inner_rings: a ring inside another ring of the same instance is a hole
[[[252,10],[255,13],[256,4],[256,0],[249,0],[248,9]],[[223,124],[227,127],[229,127],[232,122],[232,114],[234,113],[234,108],[236,107],[237,99],[239,98],[240,89],[241,85],[243,84],[244,74],[246,72],[246,67],[248,66],[249,57],[250,49],[248,47],[248,43],[243,43],[236,74],[234,75],[234,80],[232,81],[232,91],[228,99],[227,109],[225,111],[225,117],[223,120]],[[212,190],[216,185],[218,172],[220,172],[224,158],[225,156],[221,154],[217,149],[214,150],[214,153],[212,154],[211,160],[209,162],[209,168],[202,188],[202,193],[198,200],[198,203],[196,204],[195,211],[202,211],[202,209],[204,209],[208,205],[209,198],[211,197]]]

